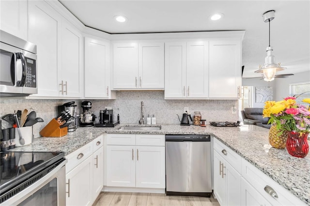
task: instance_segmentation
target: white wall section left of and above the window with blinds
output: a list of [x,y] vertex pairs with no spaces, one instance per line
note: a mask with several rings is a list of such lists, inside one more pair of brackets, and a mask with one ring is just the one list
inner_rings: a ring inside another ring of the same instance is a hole
[[290,84],[299,82],[310,82],[310,71],[296,73],[294,76],[290,76],[283,79],[276,79],[277,93],[275,101],[281,101],[283,98],[290,95]]

